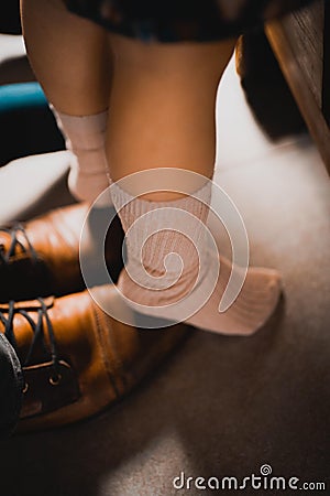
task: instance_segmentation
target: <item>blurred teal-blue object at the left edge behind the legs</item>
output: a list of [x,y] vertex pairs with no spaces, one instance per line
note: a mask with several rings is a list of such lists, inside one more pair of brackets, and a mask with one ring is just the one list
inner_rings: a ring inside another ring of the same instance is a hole
[[0,86],[0,112],[47,105],[48,100],[38,83],[14,83]]

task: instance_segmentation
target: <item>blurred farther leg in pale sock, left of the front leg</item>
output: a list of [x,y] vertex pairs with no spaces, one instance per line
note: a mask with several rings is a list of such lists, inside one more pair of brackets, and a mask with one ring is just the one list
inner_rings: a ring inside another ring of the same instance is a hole
[[105,136],[111,53],[105,30],[67,11],[62,0],[22,0],[26,52],[75,154],[70,191],[92,201],[108,186]]

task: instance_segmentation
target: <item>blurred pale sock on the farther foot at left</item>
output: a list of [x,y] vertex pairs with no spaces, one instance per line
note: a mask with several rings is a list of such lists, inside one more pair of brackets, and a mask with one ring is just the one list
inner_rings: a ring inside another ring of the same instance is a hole
[[110,184],[105,148],[108,110],[77,117],[51,108],[73,152],[69,191],[79,201],[94,202]]

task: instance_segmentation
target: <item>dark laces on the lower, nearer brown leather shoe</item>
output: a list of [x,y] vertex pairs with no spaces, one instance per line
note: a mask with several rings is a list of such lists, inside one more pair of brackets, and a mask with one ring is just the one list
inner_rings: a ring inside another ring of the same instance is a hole
[[[16,302],[10,301],[7,305],[6,311],[0,309],[0,322],[2,322],[4,326],[6,337],[13,346],[15,352],[18,352],[18,343],[14,334],[14,316],[22,315],[28,321],[33,332],[33,338],[29,352],[24,362],[22,363],[23,368],[31,365],[34,351],[36,346],[41,345],[44,353],[47,356],[51,356],[51,362],[54,368],[54,378],[57,378],[59,377],[59,358],[52,321],[48,315],[50,305],[47,305],[42,298],[37,298],[35,302],[38,302],[38,306],[33,306],[33,309],[30,309],[29,303],[26,308],[21,308],[21,304],[19,305]],[[36,314],[35,320],[31,316],[32,312]],[[45,342],[46,334],[48,335],[50,349]]]

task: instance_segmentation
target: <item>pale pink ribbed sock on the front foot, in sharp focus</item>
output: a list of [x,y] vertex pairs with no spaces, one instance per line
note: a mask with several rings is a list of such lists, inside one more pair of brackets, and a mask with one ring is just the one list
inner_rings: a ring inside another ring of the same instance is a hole
[[[275,270],[250,268],[239,296],[219,312],[232,265],[208,246],[210,188],[208,182],[194,196],[165,203],[134,198],[113,184],[112,201],[128,250],[118,288],[138,312],[222,334],[249,335],[273,313],[280,278]],[[233,270],[239,274],[242,269]]]

